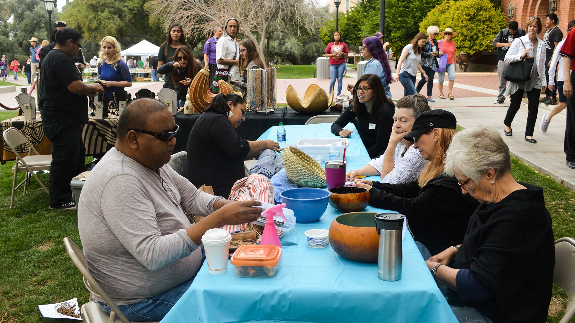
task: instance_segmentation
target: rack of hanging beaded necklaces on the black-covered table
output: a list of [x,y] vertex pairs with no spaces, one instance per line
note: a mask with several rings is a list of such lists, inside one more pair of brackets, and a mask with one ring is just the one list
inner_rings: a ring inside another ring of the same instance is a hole
[[273,113],[277,106],[275,80],[277,69],[252,68],[247,73],[247,110],[256,113]]

